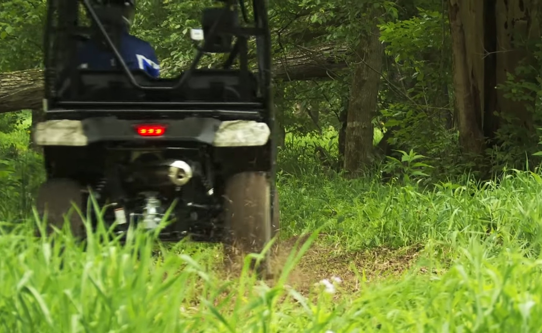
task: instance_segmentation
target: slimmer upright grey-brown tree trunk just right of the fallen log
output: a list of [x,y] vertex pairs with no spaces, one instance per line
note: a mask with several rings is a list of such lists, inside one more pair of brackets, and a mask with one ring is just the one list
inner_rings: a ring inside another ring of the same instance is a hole
[[360,36],[346,117],[344,168],[351,176],[370,162],[373,149],[372,118],[376,111],[384,48],[379,28]]

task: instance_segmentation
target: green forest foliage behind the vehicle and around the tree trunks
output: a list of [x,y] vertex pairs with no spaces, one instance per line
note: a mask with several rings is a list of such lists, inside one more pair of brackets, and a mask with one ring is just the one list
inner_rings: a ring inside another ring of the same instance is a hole
[[[0,4],[0,71],[41,66],[45,3],[7,0]],[[213,3],[138,1],[131,31],[157,49],[164,76],[176,76],[189,66],[195,54],[189,30],[201,25],[201,10]],[[352,50],[375,22],[379,24],[385,59],[375,123],[384,123],[391,133],[386,137],[386,155],[397,159],[401,155],[396,151],[413,150],[427,156],[434,167],[428,174],[435,180],[442,175],[461,177],[464,171],[483,164],[491,165],[493,173],[505,166],[520,168],[526,155],[530,156],[530,165],[540,162],[532,157],[538,151],[539,133],[532,126],[518,124],[509,113],[499,114],[499,129],[486,159],[461,152],[453,114],[448,13],[441,1],[278,0],[269,5],[275,59],[307,56],[318,53],[315,47],[324,47],[336,61],[352,64]],[[534,127],[542,122],[541,49],[539,41],[528,44],[537,61],[521,63],[515,73],[508,73],[506,84],[499,86],[508,99],[534,102],[530,109]],[[206,55],[202,66],[215,66],[221,59]],[[275,106],[286,133],[322,135],[329,126],[340,129],[341,114],[350,96],[351,71],[338,74],[334,80],[275,81]],[[17,117],[8,118],[0,119],[1,131],[18,121]],[[336,152],[328,155],[337,157],[335,164],[340,163]]]

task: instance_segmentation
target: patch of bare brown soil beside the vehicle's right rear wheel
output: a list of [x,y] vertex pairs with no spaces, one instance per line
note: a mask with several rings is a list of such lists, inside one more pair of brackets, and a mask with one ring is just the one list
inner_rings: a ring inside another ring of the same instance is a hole
[[[295,250],[299,251],[299,247],[307,239],[308,235],[280,242],[279,246],[274,249],[272,256],[274,277],[266,281],[267,285],[273,286],[276,283],[282,273],[282,267],[284,267],[288,260],[289,254]],[[295,248],[296,243],[298,244],[297,249]],[[333,283],[335,277],[340,278],[340,292],[335,293],[333,298],[351,297],[352,293],[362,290],[364,284],[367,282],[389,276],[398,276],[405,272],[412,267],[420,255],[419,248],[375,248],[363,252],[344,252],[340,246],[333,247],[322,243],[318,241],[313,242],[312,246],[288,275],[287,279],[289,286],[313,300],[318,298],[318,294],[313,292],[315,291],[315,285],[318,285],[323,279],[327,279]],[[231,257],[224,259],[224,266],[221,268],[216,267],[218,269],[214,270],[215,273],[219,274],[220,279],[223,281],[238,278],[243,267],[243,255],[241,253],[234,253]],[[424,273],[423,270],[421,273]],[[201,283],[203,285],[203,281]],[[214,299],[213,303],[215,306],[218,306],[225,299],[229,299],[227,303],[233,304],[236,296],[232,296],[231,294],[236,294],[237,291],[235,285],[226,287]],[[248,293],[249,291],[246,290],[246,292]],[[279,302],[286,302],[287,299],[288,296],[283,295]],[[292,299],[288,302],[292,302]],[[195,309],[193,311],[197,310],[198,304],[198,299],[193,299],[190,302],[191,308]],[[222,309],[230,308],[222,306]]]

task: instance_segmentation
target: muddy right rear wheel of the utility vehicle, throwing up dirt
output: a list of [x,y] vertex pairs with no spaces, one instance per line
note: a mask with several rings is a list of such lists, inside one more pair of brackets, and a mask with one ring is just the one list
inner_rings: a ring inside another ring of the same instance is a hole
[[[247,253],[260,253],[273,234],[270,186],[264,172],[241,172],[225,184],[225,246]],[[269,253],[257,271],[271,272]]]

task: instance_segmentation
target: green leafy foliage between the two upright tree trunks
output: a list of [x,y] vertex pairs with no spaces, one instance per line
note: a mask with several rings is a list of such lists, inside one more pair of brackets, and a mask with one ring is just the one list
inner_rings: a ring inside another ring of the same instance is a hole
[[[379,119],[393,131],[388,142],[428,156],[434,179],[473,167],[461,158],[451,112],[451,49],[447,15],[417,9],[413,17],[380,25],[390,59],[380,91]],[[393,156],[401,158],[401,156]]]

